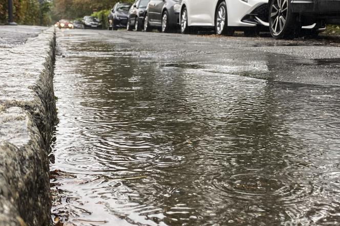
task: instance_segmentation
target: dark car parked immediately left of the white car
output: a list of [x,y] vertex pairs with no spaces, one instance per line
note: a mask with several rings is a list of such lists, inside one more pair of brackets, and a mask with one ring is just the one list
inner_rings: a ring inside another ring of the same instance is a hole
[[181,0],[151,0],[144,16],[144,31],[150,31],[152,27],[164,33],[177,29],[180,10]]

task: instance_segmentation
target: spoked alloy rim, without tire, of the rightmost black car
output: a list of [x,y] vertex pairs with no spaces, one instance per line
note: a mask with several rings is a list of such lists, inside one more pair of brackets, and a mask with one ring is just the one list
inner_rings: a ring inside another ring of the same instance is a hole
[[270,10],[270,26],[274,35],[282,32],[286,25],[288,14],[288,0],[274,0]]

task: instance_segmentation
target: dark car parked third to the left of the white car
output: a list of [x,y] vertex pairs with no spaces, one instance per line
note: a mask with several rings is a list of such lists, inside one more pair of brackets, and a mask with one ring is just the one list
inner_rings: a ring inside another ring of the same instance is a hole
[[109,29],[117,30],[118,28],[126,28],[128,24],[128,13],[132,6],[131,3],[116,3],[109,14]]

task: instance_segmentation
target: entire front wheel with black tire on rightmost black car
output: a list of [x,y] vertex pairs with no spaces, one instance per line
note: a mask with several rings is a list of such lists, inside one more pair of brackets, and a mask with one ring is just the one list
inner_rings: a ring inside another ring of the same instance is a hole
[[288,0],[272,0],[269,7],[269,31],[275,39],[292,39],[301,29],[298,15],[291,10]]

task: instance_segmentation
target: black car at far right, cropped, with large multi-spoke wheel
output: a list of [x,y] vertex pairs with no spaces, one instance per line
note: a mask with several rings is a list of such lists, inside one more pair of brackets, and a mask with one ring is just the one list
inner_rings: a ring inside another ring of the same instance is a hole
[[325,24],[340,24],[340,0],[270,0],[269,30],[274,38],[293,38],[303,26],[317,34]]

